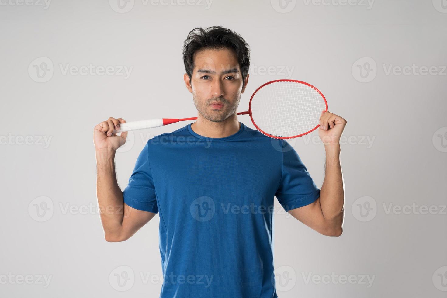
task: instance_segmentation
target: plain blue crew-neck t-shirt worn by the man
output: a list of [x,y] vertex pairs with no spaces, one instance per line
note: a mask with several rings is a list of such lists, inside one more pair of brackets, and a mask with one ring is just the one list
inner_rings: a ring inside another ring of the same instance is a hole
[[274,196],[286,211],[320,196],[295,149],[243,123],[207,138],[191,124],[141,151],[124,202],[160,216],[163,298],[275,298]]

